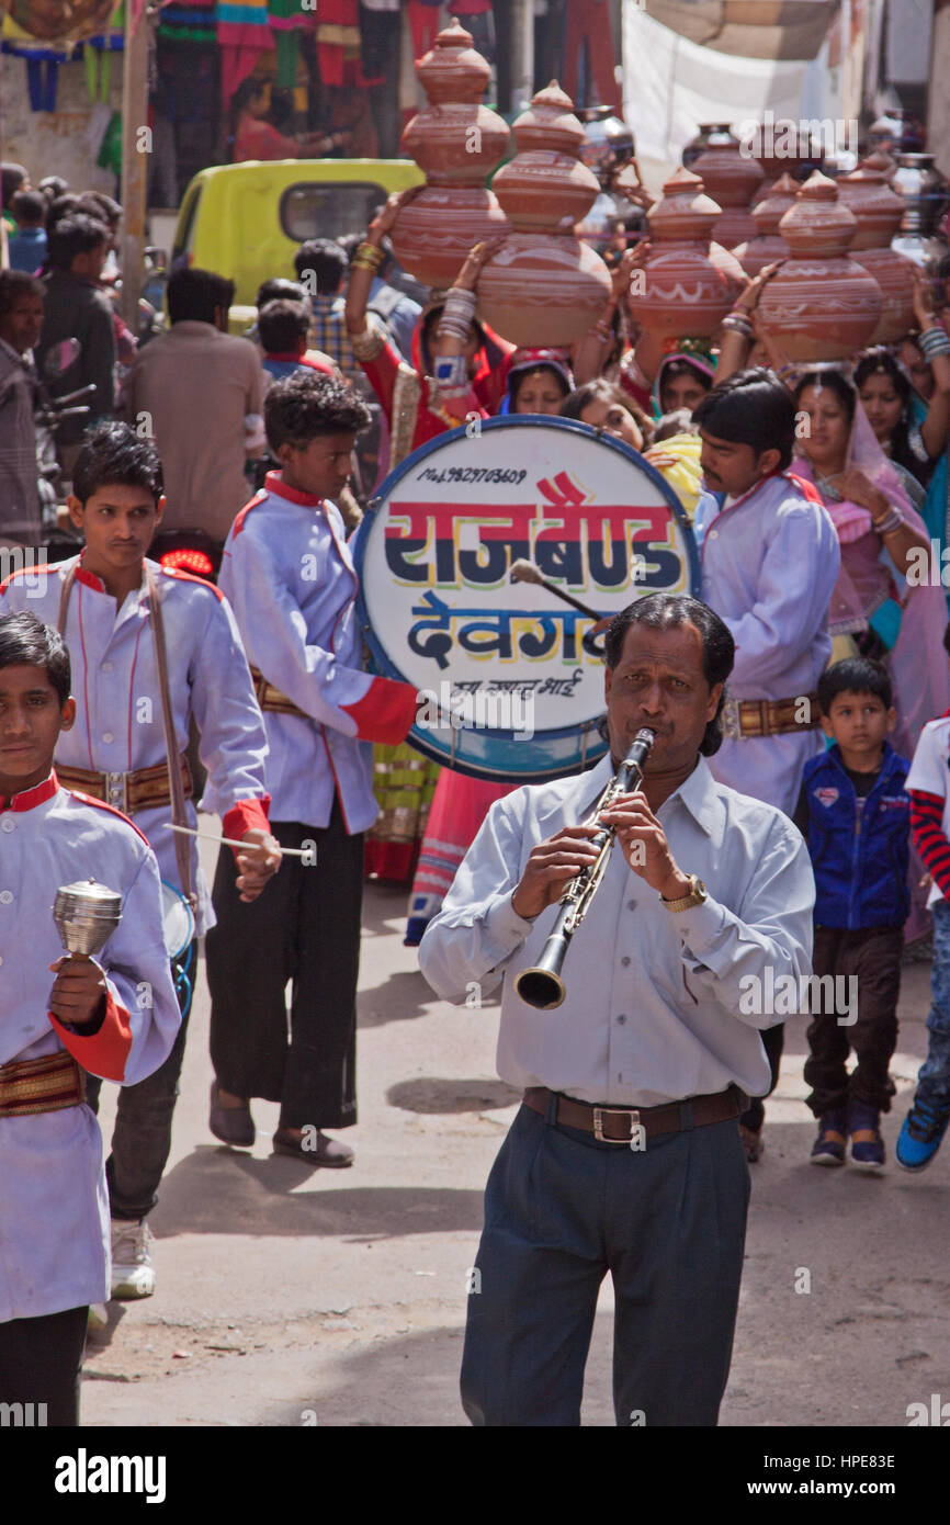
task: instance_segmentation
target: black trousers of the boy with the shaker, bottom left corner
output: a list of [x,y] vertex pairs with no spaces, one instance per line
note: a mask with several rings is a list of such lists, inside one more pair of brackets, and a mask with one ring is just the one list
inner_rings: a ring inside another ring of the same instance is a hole
[[24,1426],[79,1423],[87,1315],[88,1307],[66,1308],[0,1324],[0,1403],[21,1403]]

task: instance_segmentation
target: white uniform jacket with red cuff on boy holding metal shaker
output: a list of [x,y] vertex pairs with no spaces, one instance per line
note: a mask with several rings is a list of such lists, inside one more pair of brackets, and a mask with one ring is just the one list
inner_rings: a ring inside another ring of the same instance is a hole
[[[95,877],[122,895],[122,921],[96,962],[108,982],[98,1032],[81,1037],[49,1011],[64,956],[56,891]],[[63,1049],[82,1069],[134,1086],[165,1061],[178,1003],[162,938],[159,866],[136,827],[55,773],[0,799],[0,1064]],[[102,1135],[90,1107],[0,1118],[0,1322],[40,1318],[110,1289]]]

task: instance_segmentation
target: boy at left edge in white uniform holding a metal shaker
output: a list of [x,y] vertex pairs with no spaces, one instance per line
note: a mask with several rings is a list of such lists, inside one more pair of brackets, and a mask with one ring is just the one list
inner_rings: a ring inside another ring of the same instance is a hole
[[[87,1307],[108,1296],[102,1139],[84,1072],[134,1086],[180,1023],[154,852],[53,772],[75,723],[69,695],[56,631],[0,618],[0,1403],[34,1405],[35,1424],[78,1424]],[[52,906],[90,875],[122,897],[122,920],[85,961],[64,956]]]

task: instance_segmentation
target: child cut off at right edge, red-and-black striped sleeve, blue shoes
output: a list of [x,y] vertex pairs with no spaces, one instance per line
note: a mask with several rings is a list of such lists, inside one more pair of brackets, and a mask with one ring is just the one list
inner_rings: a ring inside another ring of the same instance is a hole
[[[950,625],[944,631],[950,656]],[[924,656],[921,656],[924,660]],[[920,734],[907,788],[913,846],[930,874],[927,906],[933,915],[933,967],[927,1058],[916,1077],[913,1106],[897,1141],[897,1162],[924,1170],[936,1154],[950,1122],[950,711],[929,721]]]

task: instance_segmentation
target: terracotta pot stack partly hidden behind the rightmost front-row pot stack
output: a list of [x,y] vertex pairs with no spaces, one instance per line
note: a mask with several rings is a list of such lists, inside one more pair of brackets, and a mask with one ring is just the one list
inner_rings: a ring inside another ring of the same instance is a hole
[[894,345],[913,325],[913,264],[891,247],[904,203],[887,183],[887,168],[872,159],[849,175],[839,175],[836,185],[839,201],[857,218],[848,253],[874,276],[884,299],[871,343]]

